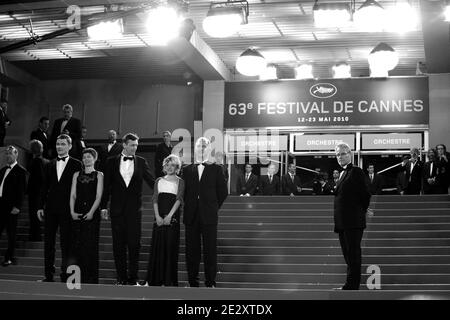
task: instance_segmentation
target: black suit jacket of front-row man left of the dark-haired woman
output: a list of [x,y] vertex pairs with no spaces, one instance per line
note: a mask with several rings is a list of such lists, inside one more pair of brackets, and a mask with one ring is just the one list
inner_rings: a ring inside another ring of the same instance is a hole
[[69,157],[66,167],[58,181],[56,159],[50,161],[44,168],[44,183],[41,188],[38,208],[46,213],[63,215],[70,218],[70,190],[75,172],[81,170],[81,162]]

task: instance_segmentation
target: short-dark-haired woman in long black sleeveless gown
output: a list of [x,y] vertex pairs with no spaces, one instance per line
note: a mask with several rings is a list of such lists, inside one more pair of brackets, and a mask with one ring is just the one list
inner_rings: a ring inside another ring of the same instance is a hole
[[70,197],[72,215],[72,257],[81,270],[82,283],[98,283],[98,244],[103,173],[95,171],[97,152],[82,152],[83,169],[73,175]]

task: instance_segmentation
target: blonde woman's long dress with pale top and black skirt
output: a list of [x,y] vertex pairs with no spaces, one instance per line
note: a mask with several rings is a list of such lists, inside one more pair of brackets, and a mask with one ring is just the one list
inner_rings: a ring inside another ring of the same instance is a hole
[[[159,178],[155,183],[154,201],[161,218],[166,217],[177,200],[182,201],[183,181]],[[170,225],[153,223],[147,282],[151,286],[178,286],[178,251],[180,246],[180,211],[173,214]]]

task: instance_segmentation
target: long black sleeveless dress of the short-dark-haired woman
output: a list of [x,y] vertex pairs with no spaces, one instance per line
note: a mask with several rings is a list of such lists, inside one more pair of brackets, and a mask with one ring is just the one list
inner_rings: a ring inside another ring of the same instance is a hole
[[[75,212],[87,214],[97,196],[97,171],[80,171],[77,178],[77,198]],[[82,283],[98,283],[98,243],[100,228],[100,210],[94,213],[90,221],[73,221],[72,245],[73,258],[81,269]]]

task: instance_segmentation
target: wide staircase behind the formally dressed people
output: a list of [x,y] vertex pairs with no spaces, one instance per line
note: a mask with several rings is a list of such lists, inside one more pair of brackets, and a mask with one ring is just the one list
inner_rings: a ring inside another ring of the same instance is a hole
[[[150,250],[151,207],[150,197],[144,197],[141,279]],[[361,289],[366,288],[367,267],[376,264],[381,268],[381,289],[450,291],[450,196],[375,196],[371,208],[375,215],[367,221],[362,242]],[[41,279],[43,243],[25,241],[26,213],[21,213],[18,225],[17,265],[0,267],[0,279]],[[187,285],[183,229],[180,286]],[[2,254],[6,244],[4,234]],[[218,255],[221,288],[327,290],[345,281],[329,196],[228,197],[220,211]],[[57,249],[57,267],[59,262]],[[100,282],[114,283],[109,221],[101,224],[100,269]]]

